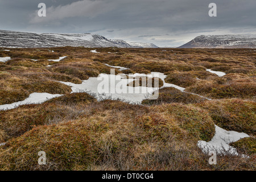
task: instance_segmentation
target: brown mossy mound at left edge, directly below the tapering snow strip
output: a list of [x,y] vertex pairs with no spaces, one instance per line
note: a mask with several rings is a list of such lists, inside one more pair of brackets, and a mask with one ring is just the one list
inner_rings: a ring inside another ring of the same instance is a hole
[[[0,111],[0,130],[6,139],[18,137],[38,125],[48,125],[73,119],[80,115],[86,104],[96,99],[87,93],[72,93],[52,98],[44,104],[31,104]],[[77,110],[76,110],[77,109]]]

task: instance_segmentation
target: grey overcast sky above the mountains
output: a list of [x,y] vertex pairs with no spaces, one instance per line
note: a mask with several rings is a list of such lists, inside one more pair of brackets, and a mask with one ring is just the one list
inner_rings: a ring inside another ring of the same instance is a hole
[[[216,3],[217,17],[208,15]],[[46,17],[38,16],[45,3]],[[199,35],[256,34],[255,0],[0,0],[0,30],[92,33],[177,47]]]

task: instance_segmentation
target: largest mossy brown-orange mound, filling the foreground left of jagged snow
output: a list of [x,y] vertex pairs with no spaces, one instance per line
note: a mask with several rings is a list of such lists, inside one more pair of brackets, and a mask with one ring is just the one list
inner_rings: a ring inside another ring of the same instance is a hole
[[[196,167],[192,161],[202,156],[197,140],[209,140],[214,134],[212,119],[204,110],[192,106],[167,104],[147,108],[102,101],[84,108],[84,114],[72,121],[37,126],[10,139],[0,147],[0,168],[164,169],[174,164],[169,168],[188,169]],[[38,165],[39,151],[46,152],[47,165]]]

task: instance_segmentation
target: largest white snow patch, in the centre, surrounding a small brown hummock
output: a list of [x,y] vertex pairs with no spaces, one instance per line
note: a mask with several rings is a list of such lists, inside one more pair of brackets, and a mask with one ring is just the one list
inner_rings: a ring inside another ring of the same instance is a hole
[[[126,76],[129,76],[129,78],[126,78]],[[60,82],[62,84],[71,86],[72,93],[80,93],[80,92],[86,92],[88,94],[93,93],[96,95],[95,97],[97,98],[97,100],[102,100],[102,95],[104,95],[104,98],[106,99],[112,99],[112,100],[121,99],[125,102],[134,102],[134,103],[141,104],[141,102],[144,99],[146,99],[146,97],[147,98],[151,97],[151,95],[159,88],[152,88],[152,87],[146,87],[146,86],[137,86],[137,87],[127,86],[127,84],[129,84],[130,82],[133,82],[134,80],[136,80],[137,77],[151,77],[151,78],[159,77],[164,82],[164,85],[161,88],[174,87],[176,89],[179,89],[181,92],[185,92],[184,91],[185,88],[182,88],[174,84],[166,83],[164,81],[164,78],[166,78],[167,76],[164,75],[164,73],[159,73],[159,72],[151,72],[151,74],[149,75],[146,75],[143,73],[135,73],[133,75],[132,74],[129,74],[129,75],[100,74],[98,77],[90,77],[88,80],[82,81],[82,84],[73,84],[72,82],[63,82],[63,81],[60,81]],[[108,89],[98,90],[98,85],[108,85]],[[117,92],[116,88],[121,88],[121,92]],[[203,96],[200,96],[200,97],[203,97]]]

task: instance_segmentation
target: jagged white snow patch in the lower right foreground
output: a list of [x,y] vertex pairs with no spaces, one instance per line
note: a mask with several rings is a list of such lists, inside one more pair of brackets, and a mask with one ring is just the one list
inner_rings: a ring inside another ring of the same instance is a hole
[[229,146],[229,143],[236,142],[245,137],[250,137],[245,133],[238,133],[236,131],[227,131],[215,125],[215,135],[209,142],[200,140],[197,146],[208,154],[209,151],[216,151],[218,154],[232,154],[238,155],[236,148]]

